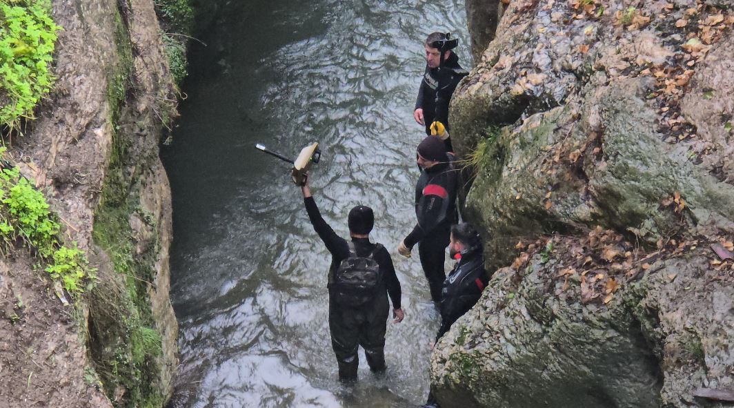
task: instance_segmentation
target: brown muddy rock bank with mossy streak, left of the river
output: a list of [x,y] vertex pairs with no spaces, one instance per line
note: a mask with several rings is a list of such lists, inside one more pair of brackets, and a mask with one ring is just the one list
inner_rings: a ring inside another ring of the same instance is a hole
[[87,251],[98,282],[79,307],[65,307],[37,261],[10,254],[0,268],[0,405],[161,406],[177,323],[158,143],[175,93],[154,3],[53,6],[63,27],[57,83],[10,159],[51,201],[68,242]]

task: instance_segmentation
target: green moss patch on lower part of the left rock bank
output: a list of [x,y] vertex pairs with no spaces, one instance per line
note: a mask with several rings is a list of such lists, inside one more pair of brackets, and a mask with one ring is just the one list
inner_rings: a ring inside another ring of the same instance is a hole
[[[140,174],[124,176],[129,146],[115,136],[115,154],[101,202],[95,213],[92,237],[112,260],[112,276],[101,276],[90,296],[90,351],[104,390],[117,407],[160,407],[161,336],[150,309],[155,251],[137,254],[128,219],[140,212],[131,195]],[[142,219],[148,219],[142,217]]]

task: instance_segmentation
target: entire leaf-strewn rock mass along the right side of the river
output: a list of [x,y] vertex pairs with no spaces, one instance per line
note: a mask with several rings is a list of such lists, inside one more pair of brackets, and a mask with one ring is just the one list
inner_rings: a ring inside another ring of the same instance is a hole
[[734,237],[733,23],[715,1],[508,5],[451,123],[465,218],[512,267],[437,345],[440,401],[724,406],[694,393],[734,368],[709,248]]

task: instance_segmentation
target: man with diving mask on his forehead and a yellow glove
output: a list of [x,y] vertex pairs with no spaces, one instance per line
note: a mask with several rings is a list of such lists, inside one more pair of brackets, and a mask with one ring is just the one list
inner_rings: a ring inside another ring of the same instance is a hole
[[433,32],[426,37],[426,71],[413,118],[426,127],[426,135],[436,135],[446,143],[446,151],[454,151],[448,135],[448,104],[459,81],[469,73],[459,65],[459,57],[452,49],[459,45],[458,38],[450,33]]

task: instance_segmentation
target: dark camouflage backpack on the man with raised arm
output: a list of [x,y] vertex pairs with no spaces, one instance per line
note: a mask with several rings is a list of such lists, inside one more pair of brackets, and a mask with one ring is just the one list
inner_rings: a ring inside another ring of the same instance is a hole
[[349,242],[349,257],[346,257],[334,272],[331,295],[345,307],[362,307],[377,297],[382,276],[374,253],[382,248],[381,244],[366,257],[358,257],[355,244]]

